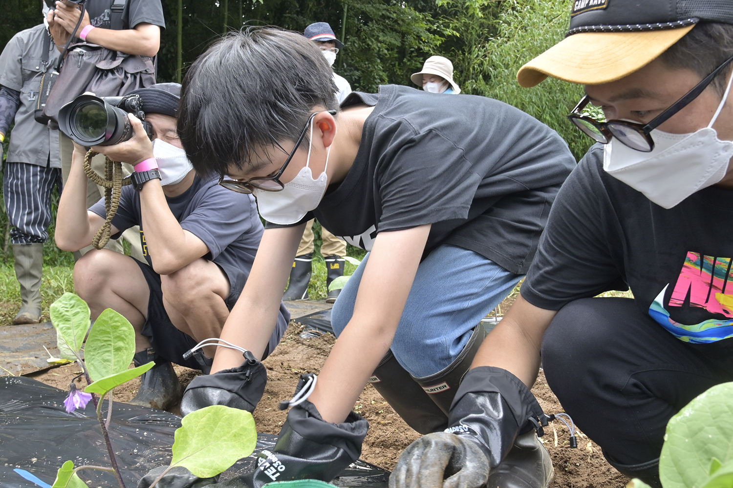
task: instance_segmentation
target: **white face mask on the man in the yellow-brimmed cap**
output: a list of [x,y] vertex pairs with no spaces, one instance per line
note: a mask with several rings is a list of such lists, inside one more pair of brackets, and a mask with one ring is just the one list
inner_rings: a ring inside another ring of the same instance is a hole
[[612,138],[603,151],[603,169],[665,209],[721,181],[733,157],[733,142],[718,139],[712,124],[725,105],[731,81],[707,127],[690,134],[652,129],[654,150],[642,152]]

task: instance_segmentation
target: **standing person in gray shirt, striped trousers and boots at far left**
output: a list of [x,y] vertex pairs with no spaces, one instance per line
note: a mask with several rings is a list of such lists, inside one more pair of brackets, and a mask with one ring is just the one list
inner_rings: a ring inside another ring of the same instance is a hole
[[0,54],[0,140],[10,137],[10,126],[15,123],[3,196],[23,300],[12,320],[16,325],[40,320],[43,243],[51,224],[51,192],[62,187],[59,131],[33,118],[41,77],[58,57],[43,23],[15,34]]

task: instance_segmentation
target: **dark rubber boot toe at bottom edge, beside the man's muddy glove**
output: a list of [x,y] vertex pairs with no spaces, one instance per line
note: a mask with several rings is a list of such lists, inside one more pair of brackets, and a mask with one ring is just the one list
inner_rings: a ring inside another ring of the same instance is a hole
[[531,429],[517,436],[507,457],[489,474],[486,486],[547,488],[554,473],[550,453]]

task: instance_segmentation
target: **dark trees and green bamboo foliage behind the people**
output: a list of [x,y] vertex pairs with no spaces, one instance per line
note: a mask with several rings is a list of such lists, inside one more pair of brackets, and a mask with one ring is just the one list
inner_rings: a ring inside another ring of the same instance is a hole
[[[88,0],[95,1],[95,0]],[[207,46],[242,26],[303,31],[325,21],[345,41],[335,69],[355,90],[386,83],[411,85],[424,59],[451,59],[463,93],[484,95],[525,110],[558,130],[576,157],[589,143],[565,119],[581,96],[569,83],[547,80],[522,89],[516,72],[561,40],[571,0],[162,0],[166,15],[158,80],[177,79],[180,10],[183,72]],[[41,0],[0,0],[0,48],[13,34],[40,23]],[[246,73],[242,73],[246,76]]]

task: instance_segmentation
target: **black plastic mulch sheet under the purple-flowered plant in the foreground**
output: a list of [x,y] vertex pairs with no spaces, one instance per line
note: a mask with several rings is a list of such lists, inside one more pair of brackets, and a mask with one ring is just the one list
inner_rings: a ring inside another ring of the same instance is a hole
[[[0,378],[1,488],[51,485],[67,460],[75,466],[109,466],[94,404],[89,402],[84,410],[66,413],[66,397],[66,391],[30,378]],[[114,402],[111,442],[128,488],[136,487],[152,468],[169,464],[173,433],[180,427],[180,420],[163,410]],[[221,481],[253,470],[254,457],[262,449],[272,448],[275,440],[274,435],[259,434],[254,454],[237,461],[221,475]],[[32,473],[45,484],[27,481],[14,469]],[[108,473],[81,470],[78,474],[88,481],[89,487],[117,487]],[[331,483],[339,487],[381,488],[387,486],[388,476],[387,471],[359,460]]]

